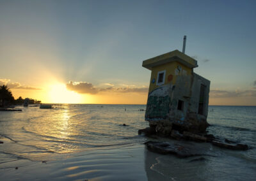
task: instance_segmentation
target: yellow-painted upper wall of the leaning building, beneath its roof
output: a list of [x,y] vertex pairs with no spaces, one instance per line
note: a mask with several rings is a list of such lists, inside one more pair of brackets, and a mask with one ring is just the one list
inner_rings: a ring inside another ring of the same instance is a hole
[[[191,72],[192,72],[191,68],[188,68],[187,66],[184,66],[183,64],[180,64],[179,62],[176,62],[176,61],[170,62],[167,64],[163,64],[161,66],[156,66],[156,67],[152,68],[148,92],[151,92],[154,89],[156,89],[157,87],[161,86],[161,85],[157,85],[157,73],[159,71],[164,71],[164,70],[166,71],[165,77],[164,77],[164,85],[167,83],[172,83],[174,85],[176,82],[176,78],[177,78],[177,75],[175,75],[175,69],[177,69],[178,66],[180,66],[182,68],[182,70],[184,69],[187,72],[186,75],[191,75]],[[173,75],[171,82],[168,82],[169,75]],[[180,71],[179,75],[182,75],[182,71]],[[153,78],[155,78],[155,80],[156,80],[155,83],[152,83]]]

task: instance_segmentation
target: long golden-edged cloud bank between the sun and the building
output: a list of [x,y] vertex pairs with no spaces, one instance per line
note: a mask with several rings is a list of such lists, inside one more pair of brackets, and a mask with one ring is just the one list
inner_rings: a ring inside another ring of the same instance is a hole
[[116,93],[146,93],[148,92],[147,87],[108,87],[99,88],[94,87],[92,83],[88,82],[68,82],[66,84],[67,89],[80,94],[98,94],[100,92],[116,92]]

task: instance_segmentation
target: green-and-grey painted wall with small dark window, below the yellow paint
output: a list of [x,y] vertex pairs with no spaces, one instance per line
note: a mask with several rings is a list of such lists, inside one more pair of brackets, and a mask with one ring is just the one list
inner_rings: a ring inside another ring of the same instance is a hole
[[[175,85],[168,83],[154,89],[148,94],[145,120],[168,119],[182,124],[188,112],[190,87],[191,75],[177,75]],[[182,110],[177,110],[179,100],[184,101]]]

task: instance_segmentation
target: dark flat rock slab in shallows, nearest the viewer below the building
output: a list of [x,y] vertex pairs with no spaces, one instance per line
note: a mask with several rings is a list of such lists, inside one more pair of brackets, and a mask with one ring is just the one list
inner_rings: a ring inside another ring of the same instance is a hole
[[202,154],[199,147],[184,147],[179,144],[159,141],[147,141],[145,145],[148,150],[151,150],[152,152],[158,154],[174,154],[180,158],[205,155]]

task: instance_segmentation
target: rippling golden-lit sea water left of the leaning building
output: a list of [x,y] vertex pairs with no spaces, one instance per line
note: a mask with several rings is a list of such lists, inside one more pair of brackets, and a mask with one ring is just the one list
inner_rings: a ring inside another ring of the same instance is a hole
[[28,107],[22,108],[22,112],[0,112],[0,136],[7,138],[10,143],[0,152],[42,160],[44,155],[49,159],[52,153],[67,154],[115,145],[120,147],[145,140],[136,134],[138,129],[147,126],[147,122],[143,121],[145,112],[138,112],[145,106],[54,107]]

